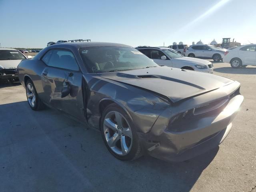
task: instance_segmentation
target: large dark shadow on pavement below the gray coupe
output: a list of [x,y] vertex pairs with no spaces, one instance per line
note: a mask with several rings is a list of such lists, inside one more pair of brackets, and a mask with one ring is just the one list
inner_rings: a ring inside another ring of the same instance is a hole
[[188,192],[219,149],[179,163],[149,156],[123,162],[100,132],[56,110],[33,111],[24,101],[2,104],[0,113],[1,192]]

